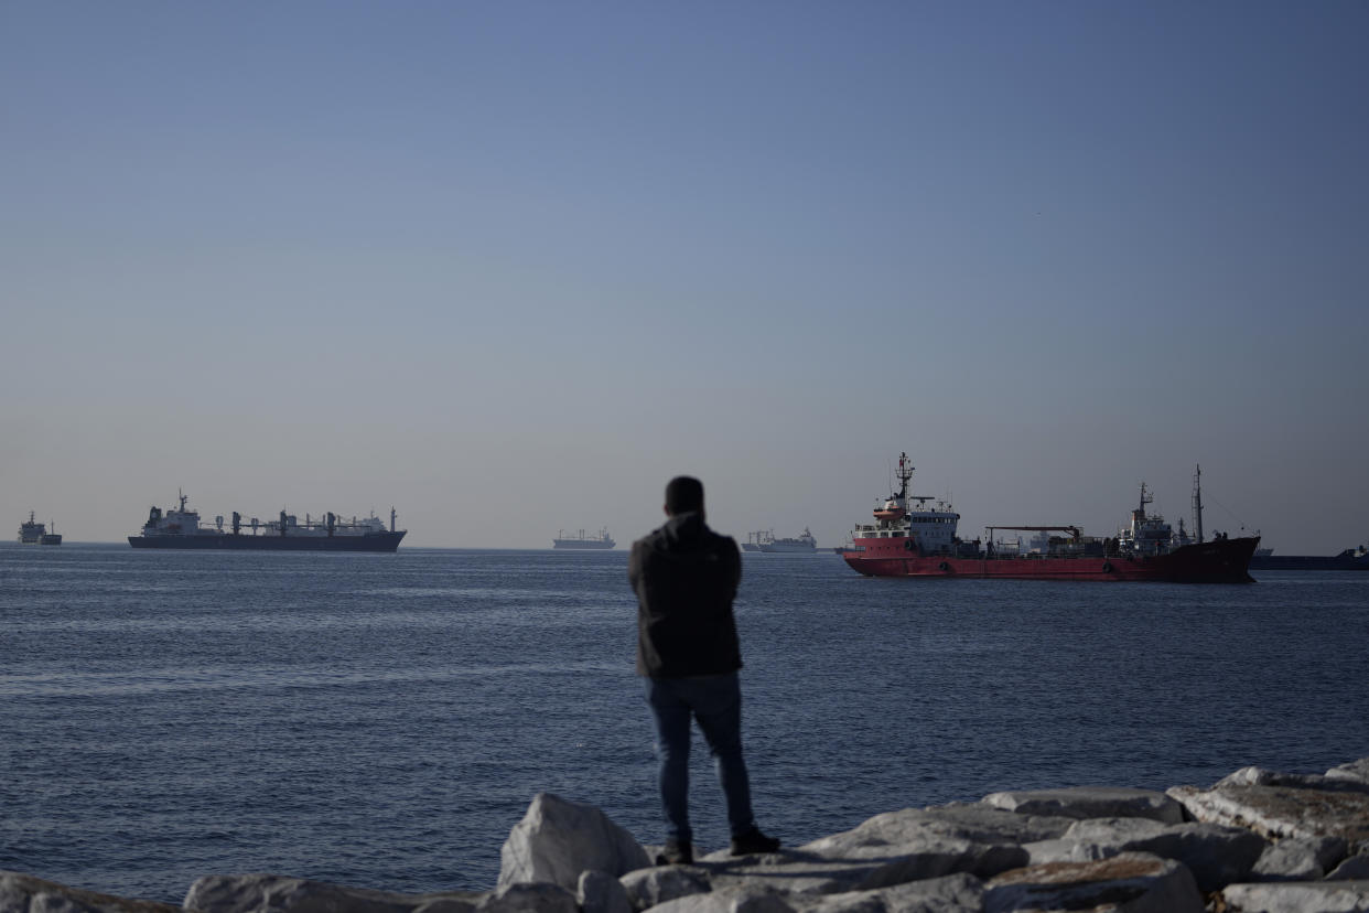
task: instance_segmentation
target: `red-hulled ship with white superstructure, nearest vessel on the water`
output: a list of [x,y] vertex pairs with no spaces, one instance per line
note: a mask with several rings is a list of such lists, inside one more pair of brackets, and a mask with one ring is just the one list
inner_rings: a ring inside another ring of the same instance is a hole
[[[1114,538],[1084,537],[1073,526],[991,526],[984,542],[956,535],[960,515],[949,504],[909,494],[913,467],[898,457],[899,487],[875,509],[875,522],[857,524],[842,557],[868,576],[1002,578],[1017,580],[1166,580],[1176,583],[1249,583],[1250,557],[1259,537],[1217,535],[1203,542],[1199,474],[1194,475],[1197,538],[1175,532],[1164,517],[1149,515],[1153,501],[1140,486],[1131,524]],[[994,542],[997,531],[1036,532],[1035,548]],[[1050,535],[1050,534],[1057,535]],[[1062,534],[1062,535],[1061,535]]]

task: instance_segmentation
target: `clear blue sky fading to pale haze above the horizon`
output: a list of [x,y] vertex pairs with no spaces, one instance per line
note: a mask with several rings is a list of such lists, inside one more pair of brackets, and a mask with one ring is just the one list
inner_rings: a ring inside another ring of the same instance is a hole
[[1369,4],[0,4],[0,516],[1369,542]]

